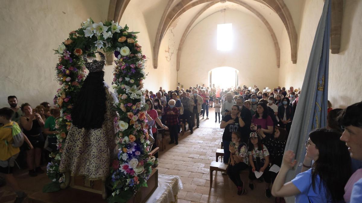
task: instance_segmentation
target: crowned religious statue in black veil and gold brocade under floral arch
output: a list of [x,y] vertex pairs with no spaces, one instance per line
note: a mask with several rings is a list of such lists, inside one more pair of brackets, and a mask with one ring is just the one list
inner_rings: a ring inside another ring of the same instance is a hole
[[85,176],[100,180],[109,176],[110,163],[116,159],[113,98],[104,83],[105,56],[84,65],[89,70],[87,78],[72,109],[72,125],[63,149],[59,171],[71,176]]

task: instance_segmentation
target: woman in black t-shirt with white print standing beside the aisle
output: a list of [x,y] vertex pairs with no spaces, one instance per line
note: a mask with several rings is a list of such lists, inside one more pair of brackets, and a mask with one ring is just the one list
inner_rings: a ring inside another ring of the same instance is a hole
[[[240,117],[239,106],[234,104],[231,107],[231,114],[226,115],[221,121],[220,128],[225,129],[223,133],[223,148],[224,150],[224,163],[228,163],[230,158],[230,151],[227,150],[229,148],[231,142],[231,134],[232,132],[240,131],[241,127],[245,126],[245,122]],[[223,173],[226,174],[226,173]]]

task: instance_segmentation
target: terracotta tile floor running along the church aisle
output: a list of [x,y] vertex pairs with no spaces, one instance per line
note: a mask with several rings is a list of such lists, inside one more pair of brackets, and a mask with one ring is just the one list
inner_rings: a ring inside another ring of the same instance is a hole
[[[216,159],[215,152],[220,148],[223,130],[219,128],[219,123],[215,124],[213,108],[210,109],[209,116],[209,120],[200,120],[200,128],[195,128],[193,134],[188,131],[178,138],[177,146],[166,144],[167,149],[159,152],[159,173],[180,176],[184,184],[184,189],[178,193],[178,203],[274,202],[274,198],[265,197],[264,183],[259,182],[254,182],[256,188],[253,191],[249,189],[248,194],[238,196],[235,185],[227,175],[222,175],[221,172],[216,172],[216,175],[214,172],[214,180],[210,189],[210,163]],[[169,141],[169,137],[167,137],[167,141]],[[31,178],[26,170],[17,170],[15,176],[20,186],[29,195],[41,190],[49,182],[46,174]],[[241,179],[248,188],[247,171],[242,173]],[[0,203],[14,201],[15,194],[9,190],[8,186],[0,187]]]

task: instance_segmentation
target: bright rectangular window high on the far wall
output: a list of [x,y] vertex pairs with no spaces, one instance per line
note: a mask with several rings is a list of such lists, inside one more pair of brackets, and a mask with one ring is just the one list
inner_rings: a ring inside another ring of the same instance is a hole
[[220,51],[230,51],[232,45],[232,24],[218,24],[217,46]]

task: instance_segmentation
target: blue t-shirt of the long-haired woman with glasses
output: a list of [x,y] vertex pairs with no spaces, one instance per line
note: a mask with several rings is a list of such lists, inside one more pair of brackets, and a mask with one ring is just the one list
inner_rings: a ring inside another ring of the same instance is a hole
[[309,169],[303,173],[299,173],[292,183],[298,188],[300,194],[295,195],[295,203],[326,203],[332,202],[332,198],[327,198],[327,191],[321,183],[319,187],[320,178],[316,176],[315,191],[312,186],[312,169]]

